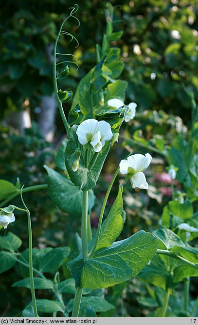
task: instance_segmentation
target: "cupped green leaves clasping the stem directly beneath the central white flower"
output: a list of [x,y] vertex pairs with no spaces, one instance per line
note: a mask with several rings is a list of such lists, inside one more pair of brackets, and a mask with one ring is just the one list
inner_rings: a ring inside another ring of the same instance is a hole
[[[108,155],[108,151],[110,148],[110,142],[108,142],[108,141],[106,142],[106,144],[104,145],[104,147],[101,150],[101,153],[99,153],[98,158],[97,158],[96,162],[94,163],[93,167],[91,168],[91,170],[89,168],[83,167],[82,155],[81,155],[80,166],[74,172],[72,170],[72,167],[70,166],[70,161],[71,161],[73,152],[77,149],[78,144],[79,144],[78,138],[76,135],[77,127],[78,127],[78,125],[73,125],[68,130],[68,137],[70,140],[67,143],[67,147],[65,150],[65,164],[66,164],[66,168],[70,175],[70,179],[71,179],[72,183],[77,185],[82,190],[89,190],[89,189],[95,187],[95,185],[96,185],[96,182],[100,175],[101,169],[102,169],[105,159]],[[93,155],[93,153],[91,152],[91,157],[92,157],[92,155]]]

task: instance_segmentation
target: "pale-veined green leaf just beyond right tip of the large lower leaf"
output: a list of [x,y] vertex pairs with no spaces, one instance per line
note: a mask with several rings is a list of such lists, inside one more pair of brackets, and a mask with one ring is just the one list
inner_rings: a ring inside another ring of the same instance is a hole
[[173,248],[174,246],[185,246],[185,244],[180,240],[173,231],[169,229],[158,229],[153,231],[153,235],[159,238],[167,249]]

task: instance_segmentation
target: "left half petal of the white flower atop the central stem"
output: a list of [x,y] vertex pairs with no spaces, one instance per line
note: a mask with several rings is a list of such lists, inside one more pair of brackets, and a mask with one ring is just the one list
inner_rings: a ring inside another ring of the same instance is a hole
[[98,121],[89,119],[83,121],[77,128],[76,134],[81,144],[90,142],[92,136],[97,132]]

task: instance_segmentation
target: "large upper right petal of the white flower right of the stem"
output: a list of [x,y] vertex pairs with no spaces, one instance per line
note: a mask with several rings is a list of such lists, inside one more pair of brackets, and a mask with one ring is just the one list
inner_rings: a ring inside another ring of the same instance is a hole
[[131,155],[127,158],[127,161],[129,167],[132,167],[138,173],[143,172],[149,166],[151,159],[151,155],[146,153],[145,156],[142,154]]

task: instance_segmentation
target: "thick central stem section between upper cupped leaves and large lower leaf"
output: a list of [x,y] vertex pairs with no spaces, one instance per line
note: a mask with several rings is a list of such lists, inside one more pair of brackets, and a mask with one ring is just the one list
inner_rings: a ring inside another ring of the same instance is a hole
[[81,237],[82,256],[86,259],[88,257],[88,191],[83,191]]

